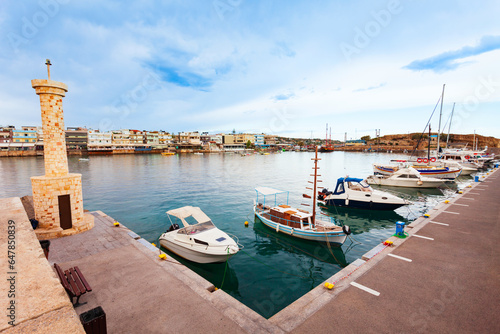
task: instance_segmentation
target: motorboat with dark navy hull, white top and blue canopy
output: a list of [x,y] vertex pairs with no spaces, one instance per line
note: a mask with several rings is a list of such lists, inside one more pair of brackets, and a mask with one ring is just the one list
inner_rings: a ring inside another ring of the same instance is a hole
[[371,210],[395,210],[410,202],[384,191],[374,190],[363,179],[341,177],[335,190],[323,188],[318,193],[318,201],[326,206]]

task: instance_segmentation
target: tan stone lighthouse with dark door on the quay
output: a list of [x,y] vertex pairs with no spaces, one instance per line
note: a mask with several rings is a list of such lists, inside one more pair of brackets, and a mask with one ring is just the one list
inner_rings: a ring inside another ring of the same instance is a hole
[[76,234],[94,226],[93,216],[83,211],[82,175],[68,172],[62,106],[68,86],[50,80],[50,60],[46,65],[48,80],[31,80],[40,96],[44,138],[45,175],[31,178],[39,239]]

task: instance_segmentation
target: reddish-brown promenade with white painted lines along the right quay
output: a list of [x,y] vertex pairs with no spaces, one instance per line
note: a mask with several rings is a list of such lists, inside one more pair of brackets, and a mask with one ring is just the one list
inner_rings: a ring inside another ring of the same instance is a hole
[[499,176],[431,212],[397,257],[383,257],[355,280],[361,286],[350,284],[293,332],[500,333]]

